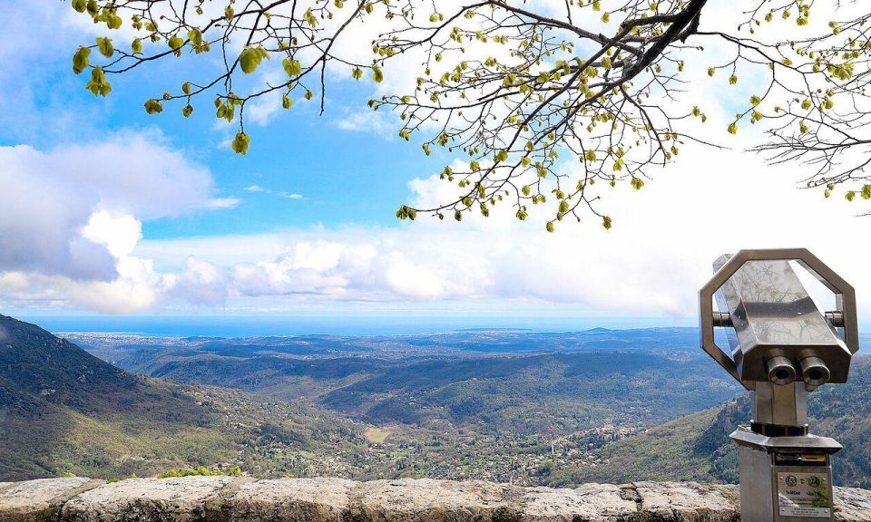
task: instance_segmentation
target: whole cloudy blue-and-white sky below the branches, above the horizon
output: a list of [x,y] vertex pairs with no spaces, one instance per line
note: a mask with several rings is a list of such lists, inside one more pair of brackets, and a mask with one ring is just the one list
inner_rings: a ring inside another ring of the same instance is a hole
[[444,198],[435,173],[455,159],[427,158],[396,139],[393,116],[366,107],[412,81],[403,67],[387,68],[381,85],[334,75],[324,115],[313,102],[262,102],[239,156],[236,129],[215,124],[210,108],[190,120],[175,106],[142,110],[208,63],[137,70],[94,98],[71,59],[100,32],[66,2],[0,3],[15,9],[0,22],[0,313],[693,324],[715,257],[808,247],[856,286],[871,316],[871,218],[800,189],[801,165],[746,151],[758,130],[725,131],[762,82],[752,73],[724,94],[725,77],[690,63],[687,95],[709,115],[699,132],[729,149],[687,144],[644,189],[613,189],[602,203],[611,230],[590,218],[548,234],[543,219],[510,211],[408,222],[396,208]]

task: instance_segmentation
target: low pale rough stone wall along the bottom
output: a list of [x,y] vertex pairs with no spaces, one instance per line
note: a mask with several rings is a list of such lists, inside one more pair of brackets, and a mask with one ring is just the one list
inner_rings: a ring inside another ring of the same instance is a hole
[[[871,491],[836,488],[836,519],[871,522]],[[231,477],[0,482],[0,522],[582,522],[739,520],[738,488],[637,482]]]

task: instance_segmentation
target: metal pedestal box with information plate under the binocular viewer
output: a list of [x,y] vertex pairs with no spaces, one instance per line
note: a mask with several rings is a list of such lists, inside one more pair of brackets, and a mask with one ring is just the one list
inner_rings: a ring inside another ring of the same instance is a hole
[[768,437],[741,426],[738,446],[741,522],[832,520],[831,455],[841,445],[828,437]]

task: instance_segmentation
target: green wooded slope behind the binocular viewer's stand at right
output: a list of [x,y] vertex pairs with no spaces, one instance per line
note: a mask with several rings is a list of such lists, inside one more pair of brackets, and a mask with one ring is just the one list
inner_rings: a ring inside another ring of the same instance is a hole
[[[598,451],[597,465],[561,469],[545,482],[610,480],[738,481],[738,451],[729,433],[751,417],[749,394],[681,417]],[[837,484],[871,487],[871,357],[857,357],[847,384],[810,394],[811,431],[844,445],[834,459]]]

